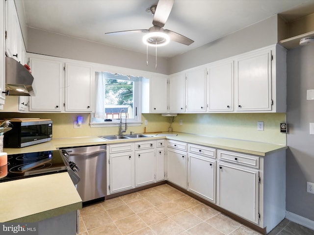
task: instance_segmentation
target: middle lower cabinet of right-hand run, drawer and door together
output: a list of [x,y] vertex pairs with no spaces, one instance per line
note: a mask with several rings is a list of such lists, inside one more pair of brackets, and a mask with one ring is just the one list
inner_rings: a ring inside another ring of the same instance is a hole
[[210,202],[216,201],[216,152],[188,144],[187,189]]

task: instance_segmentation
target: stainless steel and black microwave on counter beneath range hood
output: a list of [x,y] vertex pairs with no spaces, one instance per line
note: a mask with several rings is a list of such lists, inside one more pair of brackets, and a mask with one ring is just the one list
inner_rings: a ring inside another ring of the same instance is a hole
[[51,119],[11,119],[12,130],[3,138],[4,148],[22,148],[52,140]]

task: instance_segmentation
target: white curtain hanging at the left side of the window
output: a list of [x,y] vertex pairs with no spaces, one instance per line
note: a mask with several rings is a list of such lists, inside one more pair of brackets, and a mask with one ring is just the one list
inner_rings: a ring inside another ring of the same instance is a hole
[[95,118],[105,118],[105,72],[96,72],[95,77]]

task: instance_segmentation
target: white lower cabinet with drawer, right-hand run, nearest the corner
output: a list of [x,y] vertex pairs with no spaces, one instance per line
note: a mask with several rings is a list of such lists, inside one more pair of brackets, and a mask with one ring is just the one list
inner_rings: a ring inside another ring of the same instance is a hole
[[186,143],[168,141],[167,148],[167,180],[186,189],[187,185],[187,153]]

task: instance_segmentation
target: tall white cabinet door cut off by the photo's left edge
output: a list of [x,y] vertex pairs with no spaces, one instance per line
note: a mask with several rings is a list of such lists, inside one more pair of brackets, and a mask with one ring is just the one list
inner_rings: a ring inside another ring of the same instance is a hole
[[5,42],[4,42],[4,23],[5,23],[5,2],[0,2],[0,109],[3,109],[5,101]]

